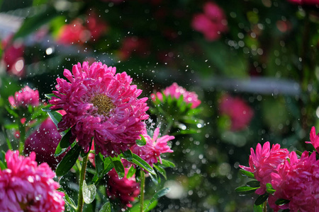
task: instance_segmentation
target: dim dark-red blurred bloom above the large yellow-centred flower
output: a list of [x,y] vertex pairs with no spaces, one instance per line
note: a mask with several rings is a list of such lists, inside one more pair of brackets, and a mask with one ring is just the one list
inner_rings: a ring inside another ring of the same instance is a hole
[[119,57],[122,60],[126,60],[132,54],[137,54],[140,57],[145,57],[150,54],[147,40],[138,37],[125,37],[122,42]]

